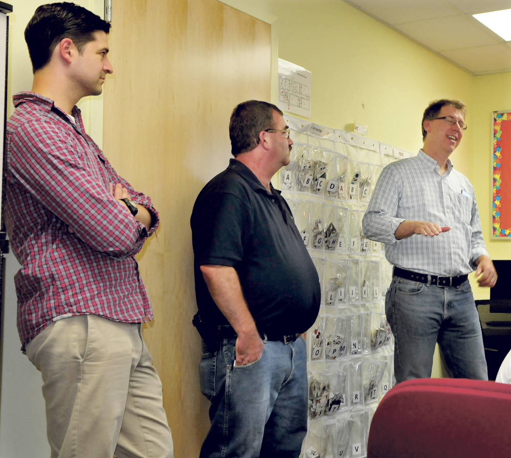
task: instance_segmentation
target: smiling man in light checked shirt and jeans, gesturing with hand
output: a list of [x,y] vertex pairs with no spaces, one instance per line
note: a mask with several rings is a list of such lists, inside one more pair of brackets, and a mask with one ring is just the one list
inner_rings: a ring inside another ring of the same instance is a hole
[[487,380],[481,327],[467,274],[494,286],[474,188],[449,159],[466,129],[465,105],[439,100],[423,117],[417,156],[385,167],[363,218],[385,244],[394,276],[385,309],[397,383],[431,376],[438,342],[454,377]]

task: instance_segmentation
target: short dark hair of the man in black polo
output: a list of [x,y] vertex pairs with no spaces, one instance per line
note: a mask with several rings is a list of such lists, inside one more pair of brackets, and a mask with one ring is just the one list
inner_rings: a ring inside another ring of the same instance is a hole
[[282,114],[275,105],[259,100],[242,102],[232,110],[229,136],[234,157],[252,151],[259,144],[259,133],[262,130],[276,128],[273,123],[274,111]]

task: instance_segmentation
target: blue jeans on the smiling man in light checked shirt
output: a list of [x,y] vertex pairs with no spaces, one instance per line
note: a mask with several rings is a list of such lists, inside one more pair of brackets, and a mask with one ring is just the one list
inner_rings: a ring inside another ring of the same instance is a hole
[[442,288],[393,277],[385,311],[395,338],[397,383],[431,377],[436,342],[453,377],[488,380],[481,325],[468,280]]

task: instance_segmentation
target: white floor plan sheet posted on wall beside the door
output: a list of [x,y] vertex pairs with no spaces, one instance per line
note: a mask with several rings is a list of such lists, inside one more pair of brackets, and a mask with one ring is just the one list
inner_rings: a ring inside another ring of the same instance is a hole
[[311,73],[294,63],[279,59],[279,103],[282,111],[311,117]]

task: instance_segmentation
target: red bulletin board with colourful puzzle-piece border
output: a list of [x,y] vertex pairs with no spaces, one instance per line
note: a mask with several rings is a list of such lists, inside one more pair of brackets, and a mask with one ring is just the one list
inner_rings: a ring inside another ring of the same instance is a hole
[[511,111],[494,111],[492,239],[511,240]]

